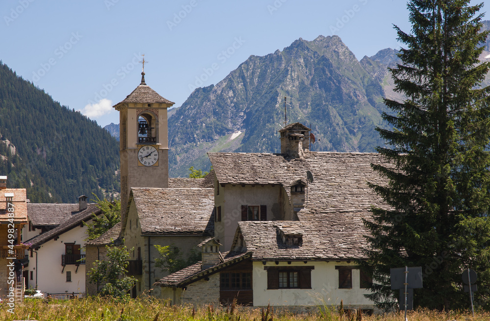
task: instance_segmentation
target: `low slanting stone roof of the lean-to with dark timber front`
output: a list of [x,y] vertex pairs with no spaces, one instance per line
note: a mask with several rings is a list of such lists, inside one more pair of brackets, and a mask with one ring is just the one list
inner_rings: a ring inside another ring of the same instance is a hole
[[164,287],[183,287],[189,283],[196,282],[197,280],[207,276],[215,274],[222,269],[241,262],[250,257],[250,253],[240,253],[240,252],[225,252],[223,253],[224,261],[216,264],[206,270],[201,269],[202,262],[197,262],[185,269],[167,275],[161,278],[153,285],[159,285]]

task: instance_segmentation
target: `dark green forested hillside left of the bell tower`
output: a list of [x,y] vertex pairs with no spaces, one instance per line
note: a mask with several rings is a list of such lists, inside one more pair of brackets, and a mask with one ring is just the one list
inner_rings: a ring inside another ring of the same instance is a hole
[[0,175],[33,203],[119,194],[119,143],[0,61]]

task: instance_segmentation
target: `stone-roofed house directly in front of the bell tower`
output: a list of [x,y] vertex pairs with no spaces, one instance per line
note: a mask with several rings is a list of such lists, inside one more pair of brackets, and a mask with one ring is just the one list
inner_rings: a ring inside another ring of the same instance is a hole
[[131,295],[160,296],[153,283],[168,273],[155,266],[155,245],[177,248],[185,258],[214,235],[213,188],[131,188],[121,235],[129,250]]

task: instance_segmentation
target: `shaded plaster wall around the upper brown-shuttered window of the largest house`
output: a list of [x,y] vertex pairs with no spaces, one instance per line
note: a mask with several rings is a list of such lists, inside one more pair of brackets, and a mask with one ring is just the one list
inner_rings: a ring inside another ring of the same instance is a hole
[[221,223],[216,224],[215,236],[223,245],[221,252],[231,249],[238,222],[242,220],[242,205],[266,205],[268,221],[285,220],[281,189],[280,184],[275,184],[274,187],[232,184],[220,186],[220,195],[215,196],[215,204],[221,206]]

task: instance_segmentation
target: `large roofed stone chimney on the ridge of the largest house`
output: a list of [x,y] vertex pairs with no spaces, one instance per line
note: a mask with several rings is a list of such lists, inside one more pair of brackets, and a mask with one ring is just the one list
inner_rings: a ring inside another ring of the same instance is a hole
[[301,123],[289,124],[279,130],[281,133],[281,154],[288,158],[303,159],[308,151],[310,128]]

